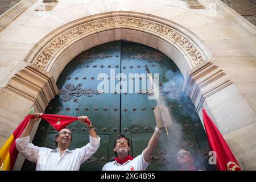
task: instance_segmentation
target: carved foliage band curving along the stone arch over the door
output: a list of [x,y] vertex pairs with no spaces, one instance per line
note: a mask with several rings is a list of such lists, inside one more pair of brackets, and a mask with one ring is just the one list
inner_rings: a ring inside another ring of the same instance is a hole
[[171,41],[176,45],[180,46],[181,49],[191,57],[192,63],[195,67],[204,62],[204,59],[197,47],[194,46],[193,43],[191,43],[191,41],[184,35],[181,35],[171,27],[147,19],[117,16],[93,20],[92,22],[80,24],[79,26],[65,31],[63,34],[53,39],[52,42],[49,42],[48,45],[40,52],[39,56],[36,57],[35,65],[44,69],[46,68],[47,63],[52,59],[53,55],[63,48],[65,44],[68,44],[80,36],[90,34],[90,32],[94,32],[96,30],[100,31],[104,28],[114,28],[117,26],[140,28],[165,36],[166,38],[171,39]]

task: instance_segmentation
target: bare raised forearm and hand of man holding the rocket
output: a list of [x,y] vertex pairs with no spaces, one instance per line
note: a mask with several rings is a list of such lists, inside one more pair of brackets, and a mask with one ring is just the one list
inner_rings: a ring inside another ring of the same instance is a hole
[[150,141],[148,142],[147,148],[143,151],[143,157],[147,163],[150,162],[153,152],[155,151],[155,148],[158,146],[158,141],[160,138],[160,133],[163,131],[163,127],[159,128],[158,126],[155,127],[155,132],[150,138]]

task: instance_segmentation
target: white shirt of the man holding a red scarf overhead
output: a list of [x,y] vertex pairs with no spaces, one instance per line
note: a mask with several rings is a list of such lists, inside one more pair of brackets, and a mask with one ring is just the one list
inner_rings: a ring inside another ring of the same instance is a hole
[[[98,136],[97,136],[98,137]],[[90,143],[75,150],[37,147],[29,143],[30,136],[16,139],[16,148],[26,159],[36,163],[36,171],[78,171],[81,164],[92,156],[100,146],[100,137],[90,137]]]

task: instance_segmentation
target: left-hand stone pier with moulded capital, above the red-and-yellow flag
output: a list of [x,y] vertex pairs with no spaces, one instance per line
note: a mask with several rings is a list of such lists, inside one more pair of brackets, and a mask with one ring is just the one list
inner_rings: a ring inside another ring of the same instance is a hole
[[[43,112],[57,93],[52,75],[34,64],[16,73],[0,93],[0,146],[6,142],[32,106],[35,111]],[[32,130],[31,141],[38,125],[39,122]],[[23,161],[19,160],[20,167]]]

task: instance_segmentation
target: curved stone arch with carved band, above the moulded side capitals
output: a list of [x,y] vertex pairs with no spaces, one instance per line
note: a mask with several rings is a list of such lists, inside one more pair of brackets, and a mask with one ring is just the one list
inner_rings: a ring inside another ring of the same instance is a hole
[[184,76],[189,69],[211,57],[195,34],[170,20],[118,11],[81,18],[58,28],[44,37],[25,61],[51,73],[56,70],[55,64],[62,70],[63,64],[68,63],[61,57],[66,51],[73,58],[81,51],[114,40],[129,40],[159,49],[175,58],[180,68],[184,67]]

